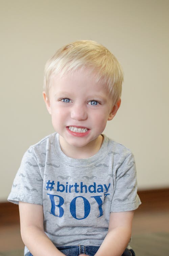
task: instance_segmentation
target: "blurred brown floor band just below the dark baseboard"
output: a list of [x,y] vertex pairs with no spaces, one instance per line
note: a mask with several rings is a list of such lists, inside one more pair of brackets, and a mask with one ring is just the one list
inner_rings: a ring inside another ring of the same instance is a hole
[[[137,212],[134,216],[132,229],[132,243],[140,235],[169,233],[169,211]],[[20,225],[1,225],[0,227],[0,252],[23,249],[24,244],[20,236]],[[169,241],[168,241],[169,255]],[[161,255],[159,255],[161,256]],[[167,255],[166,255],[167,256]]]

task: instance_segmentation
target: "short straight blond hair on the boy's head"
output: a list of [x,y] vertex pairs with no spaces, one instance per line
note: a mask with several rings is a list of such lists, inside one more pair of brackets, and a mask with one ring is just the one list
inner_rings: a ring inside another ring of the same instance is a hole
[[44,91],[48,95],[53,74],[64,76],[78,68],[87,68],[96,74],[112,96],[114,104],[120,99],[123,72],[116,57],[106,47],[95,42],[81,40],[60,48],[45,65]]

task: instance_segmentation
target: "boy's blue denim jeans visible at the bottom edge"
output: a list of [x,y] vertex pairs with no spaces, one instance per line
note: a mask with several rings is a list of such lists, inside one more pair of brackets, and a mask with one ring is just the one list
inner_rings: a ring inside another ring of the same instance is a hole
[[[99,249],[99,246],[86,246],[86,245],[78,245],[78,246],[61,246],[57,247],[59,251],[64,253],[67,256],[78,256],[83,253],[89,256],[94,256]],[[30,252],[26,254],[26,256],[33,256]],[[125,249],[122,256],[135,256],[135,253],[132,249]]]

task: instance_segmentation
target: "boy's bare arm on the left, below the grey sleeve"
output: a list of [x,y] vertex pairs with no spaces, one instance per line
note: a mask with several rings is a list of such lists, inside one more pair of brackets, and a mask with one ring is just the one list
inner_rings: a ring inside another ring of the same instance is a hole
[[19,202],[21,237],[33,256],[63,256],[43,228],[43,206]]

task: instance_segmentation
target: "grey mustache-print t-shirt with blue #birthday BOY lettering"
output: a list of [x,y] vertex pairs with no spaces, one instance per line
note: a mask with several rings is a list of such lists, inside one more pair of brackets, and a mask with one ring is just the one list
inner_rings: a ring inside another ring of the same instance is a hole
[[58,246],[100,246],[110,212],[138,208],[135,160],[107,138],[87,159],[66,156],[59,135],[51,134],[24,154],[8,200],[41,204],[44,230]]

